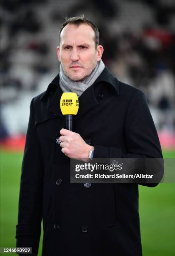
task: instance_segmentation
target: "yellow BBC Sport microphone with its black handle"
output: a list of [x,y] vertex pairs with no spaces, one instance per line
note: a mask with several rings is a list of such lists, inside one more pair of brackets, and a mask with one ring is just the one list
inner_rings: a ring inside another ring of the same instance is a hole
[[72,131],[73,116],[77,115],[79,108],[78,96],[75,92],[63,92],[60,99],[62,115],[66,116],[66,129]]

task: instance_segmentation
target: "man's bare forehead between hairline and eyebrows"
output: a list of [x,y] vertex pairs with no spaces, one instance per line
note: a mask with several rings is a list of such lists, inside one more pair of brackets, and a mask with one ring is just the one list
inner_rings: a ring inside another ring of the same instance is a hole
[[80,24],[79,26],[74,24],[67,24],[61,31],[60,40],[62,44],[69,43],[71,41],[88,41],[93,42],[95,32],[88,24]]

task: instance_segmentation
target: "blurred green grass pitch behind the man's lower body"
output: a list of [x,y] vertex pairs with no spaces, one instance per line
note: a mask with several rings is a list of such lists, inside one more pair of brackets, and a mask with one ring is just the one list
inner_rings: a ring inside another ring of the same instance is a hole
[[[175,151],[164,151],[163,155],[175,158]],[[0,247],[15,247],[22,158],[23,154],[1,151]],[[159,184],[154,188],[139,186],[139,192],[143,256],[174,256],[175,184]],[[41,245],[40,242],[38,256],[41,256]]]

